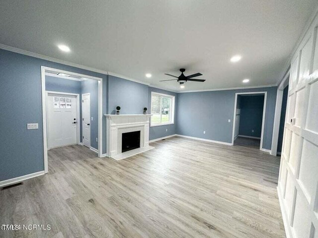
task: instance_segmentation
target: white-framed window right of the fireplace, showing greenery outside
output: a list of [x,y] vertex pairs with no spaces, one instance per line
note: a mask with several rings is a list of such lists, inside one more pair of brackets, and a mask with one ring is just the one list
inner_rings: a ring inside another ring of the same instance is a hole
[[151,126],[174,123],[174,96],[151,93]]

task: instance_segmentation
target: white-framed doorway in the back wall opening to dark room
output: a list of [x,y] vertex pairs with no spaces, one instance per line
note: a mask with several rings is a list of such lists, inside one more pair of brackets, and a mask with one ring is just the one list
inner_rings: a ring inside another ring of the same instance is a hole
[[267,92],[236,93],[232,145],[264,150],[266,97]]

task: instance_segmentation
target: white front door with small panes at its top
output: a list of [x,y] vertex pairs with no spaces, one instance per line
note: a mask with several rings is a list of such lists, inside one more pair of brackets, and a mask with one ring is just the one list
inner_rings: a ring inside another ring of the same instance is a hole
[[77,143],[76,96],[48,93],[48,147]]

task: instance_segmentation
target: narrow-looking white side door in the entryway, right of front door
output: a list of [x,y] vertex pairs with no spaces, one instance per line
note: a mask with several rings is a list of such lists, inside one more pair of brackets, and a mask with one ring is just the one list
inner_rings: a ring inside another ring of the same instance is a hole
[[82,94],[83,145],[90,148],[90,94]]

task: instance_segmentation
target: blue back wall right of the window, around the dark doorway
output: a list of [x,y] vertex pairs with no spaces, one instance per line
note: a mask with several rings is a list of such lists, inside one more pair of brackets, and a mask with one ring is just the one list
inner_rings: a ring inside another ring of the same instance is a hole
[[179,93],[177,134],[232,143],[235,93],[261,91],[267,92],[263,148],[271,149],[277,87]]

